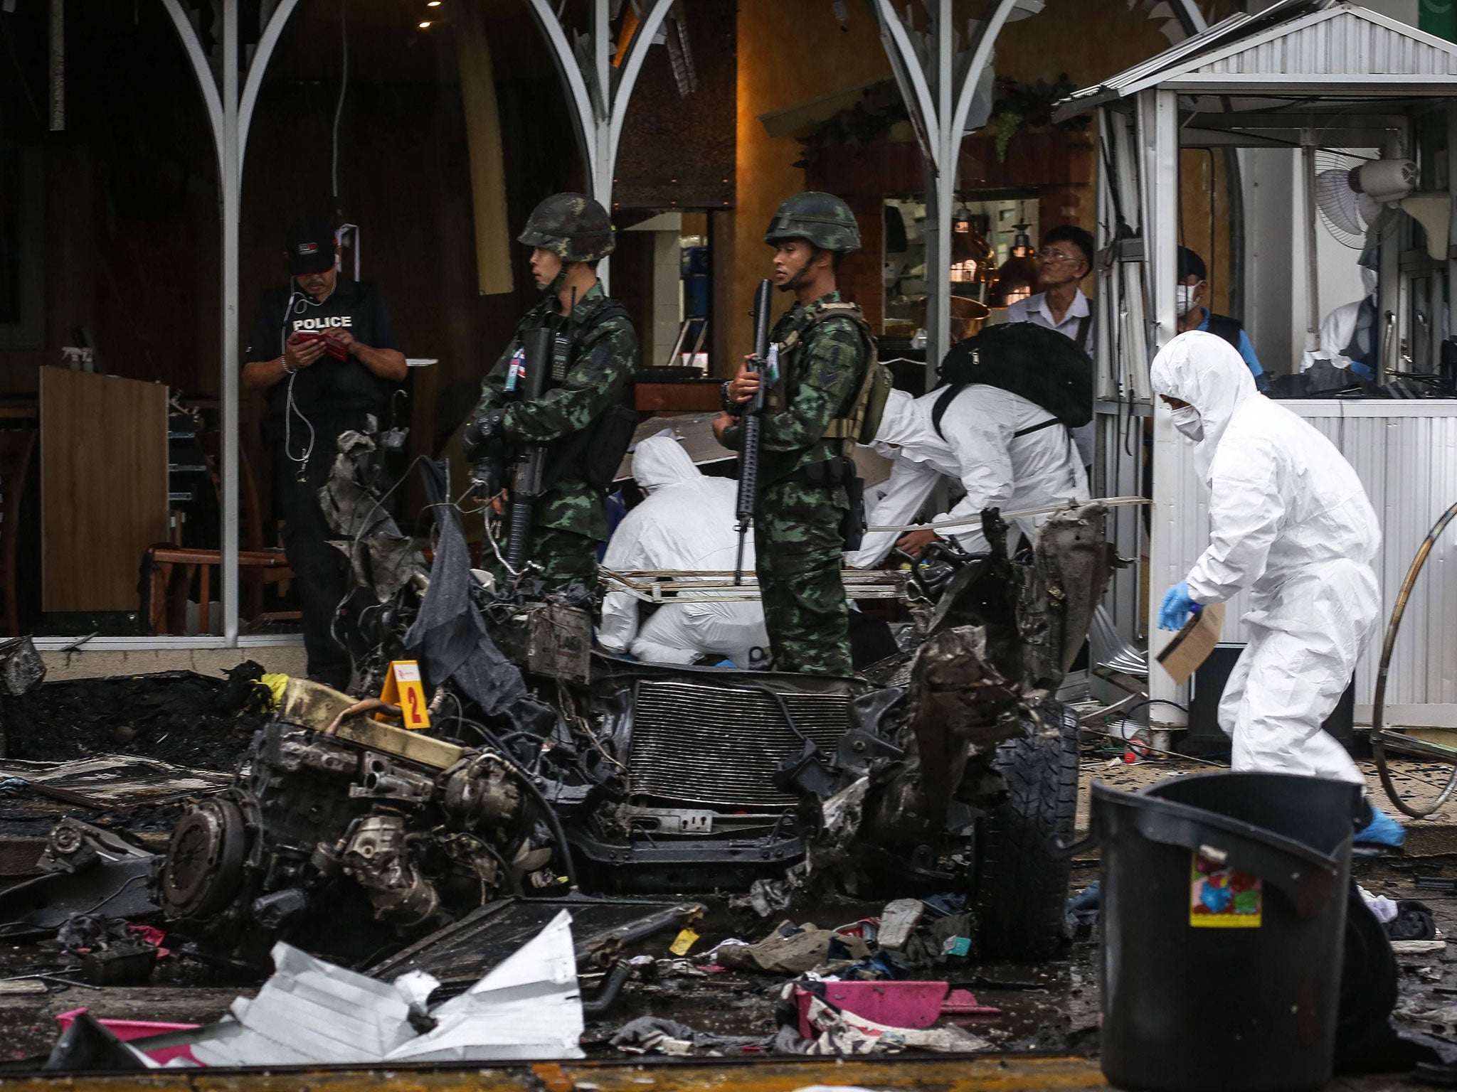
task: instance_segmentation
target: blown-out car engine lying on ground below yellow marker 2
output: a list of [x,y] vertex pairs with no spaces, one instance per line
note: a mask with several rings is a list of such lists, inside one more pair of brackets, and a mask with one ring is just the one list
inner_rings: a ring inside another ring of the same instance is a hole
[[252,965],[284,935],[373,951],[520,891],[548,860],[500,757],[369,719],[309,727],[351,705],[291,680],[242,785],[173,831],[162,907],[210,955]]

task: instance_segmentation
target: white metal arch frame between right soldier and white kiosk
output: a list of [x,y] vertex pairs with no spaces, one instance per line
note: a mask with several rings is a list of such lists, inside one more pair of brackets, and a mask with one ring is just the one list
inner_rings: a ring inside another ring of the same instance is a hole
[[[538,3],[543,0],[536,0]],[[953,0],[924,0],[930,29],[924,50],[916,48],[915,33],[893,7],[893,0],[867,0],[880,25],[880,39],[890,58],[900,96],[911,115],[911,125],[921,144],[927,169],[927,383],[935,380],[946,351],[951,347],[951,210],[956,202],[962,138],[972,99],[991,61],[997,38],[1017,7],[1018,0],[997,0],[976,32],[970,55],[962,63],[953,54],[956,29]],[[1203,15],[1195,0],[1173,0],[1174,13],[1187,33],[1205,29]],[[924,58],[924,60],[922,60]]]

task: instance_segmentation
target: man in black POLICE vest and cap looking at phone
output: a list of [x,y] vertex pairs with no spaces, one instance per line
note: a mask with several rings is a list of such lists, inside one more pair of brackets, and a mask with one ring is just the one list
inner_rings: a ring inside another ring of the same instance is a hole
[[288,284],[259,300],[242,386],[267,392],[264,438],[272,451],[283,547],[299,582],[309,678],[342,690],[350,657],[334,639],[334,619],[348,588],[347,568],[329,545],[337,536],[319,507],[319,488],[342,432],[366,430],[370,415],[382,428],[404,419],[395,396],[407,374],[405,354],[379,290],[339,275],[328,221],[294,224],[286,248]]

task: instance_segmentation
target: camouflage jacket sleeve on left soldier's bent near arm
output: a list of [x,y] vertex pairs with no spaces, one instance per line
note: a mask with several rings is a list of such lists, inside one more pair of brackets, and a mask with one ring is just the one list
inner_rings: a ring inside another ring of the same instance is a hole
[[[545,444],[580,432],[622,399],[622,387],[632,377],[637,349],[637,333],[627,319],[608,319],[589,331],[577,361],[559,387],[535,402],[513,402],[506,408],[506,434],[513,440]],[[488,384],[495,371],[501,371],[504,381],[504,363],[497,363]]]

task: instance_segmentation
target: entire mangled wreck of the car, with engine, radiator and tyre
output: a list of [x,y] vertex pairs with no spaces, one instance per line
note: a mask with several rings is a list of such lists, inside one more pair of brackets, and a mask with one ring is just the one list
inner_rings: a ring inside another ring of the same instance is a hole
[[358,485],[372,448],[347,435],[325,489],[372,641],[351,689],[415,660],[433,727],[290,680],[156,881],[205,958],[261,967],[287,939],[363,964],[494,898],[568,890],[747,891],[769,914],[950,888],[1008,951],[1056,943],[1067,863],[1048,840],[1071,833],[1077,724],[1055,693],[1115,561],[1101,507],[1053,517],[1016,561],[988,513],[992,552],[949,553],[914,641],[863,678],[656,667],[592,652],[573,590],[474,577],[433,466],[427,565]]

